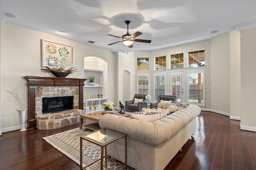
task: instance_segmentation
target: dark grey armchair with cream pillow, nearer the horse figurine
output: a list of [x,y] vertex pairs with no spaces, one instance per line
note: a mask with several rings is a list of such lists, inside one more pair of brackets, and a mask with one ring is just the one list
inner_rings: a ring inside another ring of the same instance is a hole
[[139,111],[138,102],[143,102],[145,100],[145,97],[146,94],[135,94],[132,100],[125,101],[125,111]]

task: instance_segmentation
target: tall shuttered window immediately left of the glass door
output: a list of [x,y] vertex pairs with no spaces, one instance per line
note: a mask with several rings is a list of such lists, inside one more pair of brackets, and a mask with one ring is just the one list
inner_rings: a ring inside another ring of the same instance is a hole
[[159,95],[165,95],[165,74],[154,74],[154,99]]

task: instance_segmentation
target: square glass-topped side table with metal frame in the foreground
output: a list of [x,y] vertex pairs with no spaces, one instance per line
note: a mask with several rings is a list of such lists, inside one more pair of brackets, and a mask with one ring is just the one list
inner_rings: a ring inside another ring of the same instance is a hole
[[[118,139],[124,137],[124,144],[125,144],[125,164],[120,164],[120,162],[117,162],[116,160],[113,160],[110,156],[107,154],[107,145],[110,143],[113,143],[114,141],[117,141]],[[94,143],[95,145],[98,145],[101,147],[101,157],[98,160],[95,160],[94,162],[86,165],[83,167],[83,159],[82,159],[82,148],[83,148],[83,143],[82,140],[89,141],[91,143]],[[105,155],[104,155],[104,148],[105,148]],[[92,133],[88,133],[87,135],[84,135],[80,137],[80,169],[81,170],[86,170],[86,167],[94,164],[95,162],[100,160],[100,170],[103,170],[103,161],[105,158],[105,165],[107,167],[107,159],[110,161],[115,162],[116,164],[122,166],[122,170],[127,169],[127,134],[118,132],[112,129],[104,128],[100,129],[98,131],[94,131]]]

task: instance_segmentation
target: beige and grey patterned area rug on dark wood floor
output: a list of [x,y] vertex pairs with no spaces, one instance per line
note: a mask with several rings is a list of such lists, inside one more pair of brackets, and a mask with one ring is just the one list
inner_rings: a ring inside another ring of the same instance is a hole
[[[50,145],[52,145],[52,147],[60,151],[62,154],[66,155],[68,158],[70,158],[72,161],[80,166],[80,136],[83,136],[90,132],[92,131],[86,128],[83,128],[82,130],[76,128],[70,131],[65,131],[62,133],[44,137],[43,139]],[[94,145],[88,141],[83,140],[83,166],[86,166],[94,160],[100,158],[100,153],[100,147],[98,145]],[[99,170],[100,161],[92,164],[86,169]],[[107,168],[104,166],[103,169],[120,170],[122,169],[122,167],[112,161],[107,161]],[[133,170],[129,167],[127,169]]]

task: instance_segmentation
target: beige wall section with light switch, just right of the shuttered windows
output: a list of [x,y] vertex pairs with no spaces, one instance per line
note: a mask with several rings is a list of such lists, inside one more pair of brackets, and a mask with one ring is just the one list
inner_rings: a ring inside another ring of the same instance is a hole
[[[230,37],[223,33],[211,39],[211,109],[230,113]],[[213,83],[215,89],[213,89]],[[215,106],[216,104],[216,106]]]

